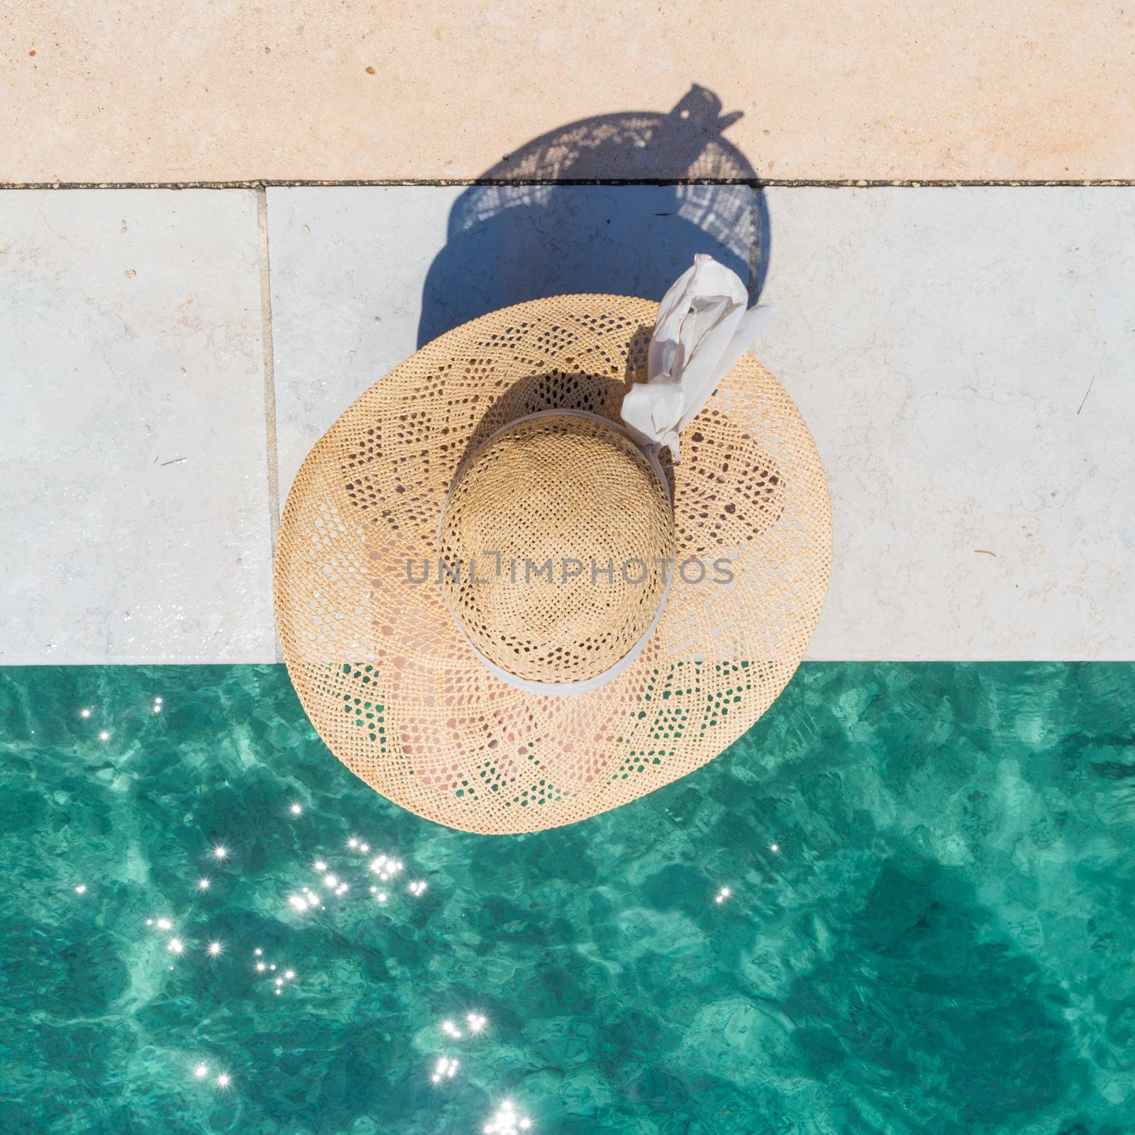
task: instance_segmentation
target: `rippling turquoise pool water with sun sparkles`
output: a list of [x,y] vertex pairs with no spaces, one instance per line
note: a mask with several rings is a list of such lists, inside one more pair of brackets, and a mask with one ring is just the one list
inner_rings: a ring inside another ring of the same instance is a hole
[[485,838],[281,667],[0,670],[0,1130],[1126,1135],[1133,680],[806,665],[686,780]]

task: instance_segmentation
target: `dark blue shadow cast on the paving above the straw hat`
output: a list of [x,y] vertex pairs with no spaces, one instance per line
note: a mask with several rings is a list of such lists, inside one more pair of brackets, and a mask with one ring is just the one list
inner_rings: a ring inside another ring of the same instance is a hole
[[[669,114],[587,118],[503,158],[449,212],[422,289],[418,345],[523,300],[661,300],[697,252],[732,268],[755,301],[768,217],[756,170],[722,136],[741,115],[721,110],[712,91],[692,86]],[[675,184],[650,184],[659,158],[681,171]]]

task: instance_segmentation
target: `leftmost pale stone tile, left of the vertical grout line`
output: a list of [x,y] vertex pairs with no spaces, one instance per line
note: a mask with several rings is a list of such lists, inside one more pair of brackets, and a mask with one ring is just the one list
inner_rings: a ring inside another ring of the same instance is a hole
[[246,191],[0,193],[0,662],[271,661]]

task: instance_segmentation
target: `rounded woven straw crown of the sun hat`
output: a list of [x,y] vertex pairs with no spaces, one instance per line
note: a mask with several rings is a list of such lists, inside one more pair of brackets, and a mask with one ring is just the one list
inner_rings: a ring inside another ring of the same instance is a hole
[[670,497],[611,426],[520,422],[461,473],[440,555],[445,600],[485,657],[529,681],[580,682],[624,657],[658,609]]

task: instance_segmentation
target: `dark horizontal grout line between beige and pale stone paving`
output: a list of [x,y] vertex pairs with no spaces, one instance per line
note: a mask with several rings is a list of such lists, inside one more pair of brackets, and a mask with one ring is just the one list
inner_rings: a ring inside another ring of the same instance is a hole
[[751,185],[754,188],[972,188],[1011,186],[1019,188],[1090,188],[1094,186],[1135,186],[1135,178],[809,178],[809,177],[405,177],[405,178],[271,178],[255,177],[229,182],[8,182],[0,190],[263,190],[267,186],[347,187],[347,186],[472,186],[472,185]]

